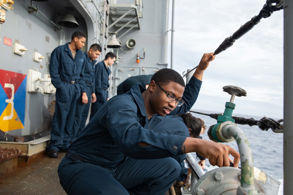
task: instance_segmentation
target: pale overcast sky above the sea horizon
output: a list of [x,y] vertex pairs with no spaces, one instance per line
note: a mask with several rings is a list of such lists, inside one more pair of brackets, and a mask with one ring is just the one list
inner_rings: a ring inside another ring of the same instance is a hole
[[[203,53],[214,52],[225,38],[258,15],[264,4],[265,0],[177,0],[173,68],[180,74],[194,68]],[[170,68],[169,54],[170,51]],[[246,97],[235,97],[233,115],[283,118],[283,10],[262,18],[233,46],[216,56],[203,75],[193,110],[224,112],[225,102],[231,97],[223,92],[226,85],[247,92]]]

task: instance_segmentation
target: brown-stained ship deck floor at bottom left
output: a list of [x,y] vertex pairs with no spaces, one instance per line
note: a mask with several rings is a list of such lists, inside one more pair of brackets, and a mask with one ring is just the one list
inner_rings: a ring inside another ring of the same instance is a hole
[[3,195],[66,195],[59,183],[58,165],[65,153],[58,158],[43,154],[35,162],[27,165],[19,163],[16,170],[0,176],[0,194]]

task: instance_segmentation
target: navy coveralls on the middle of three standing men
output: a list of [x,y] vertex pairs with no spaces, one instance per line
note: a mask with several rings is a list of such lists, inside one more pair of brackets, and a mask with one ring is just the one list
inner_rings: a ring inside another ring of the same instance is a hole
[[[91,105],[91,94],[95,92],[95,64],[97,61],[92,61],[86,52],[84,53],[84,58],[86,61],[84,68],[84,86],[81,89],[81,96],[76,101],[76,111],[74,125],[71,132],[71,141],[73,141],[86,126],[86,118],[88,117],[88,111]],[[86,93],[86,96],[88,96],[87,104],[82,103],[82,93]]]

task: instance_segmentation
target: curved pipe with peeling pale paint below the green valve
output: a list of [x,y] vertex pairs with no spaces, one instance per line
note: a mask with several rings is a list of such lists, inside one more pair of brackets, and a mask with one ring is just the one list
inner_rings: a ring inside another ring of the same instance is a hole
[[253,157],[249,141],[243,131],[231,121],[222,122],[217,133],[222,140],[234,139],[237,142],[241,156],[241,186],[237,189],[237,194],[258,194],[254,185]]

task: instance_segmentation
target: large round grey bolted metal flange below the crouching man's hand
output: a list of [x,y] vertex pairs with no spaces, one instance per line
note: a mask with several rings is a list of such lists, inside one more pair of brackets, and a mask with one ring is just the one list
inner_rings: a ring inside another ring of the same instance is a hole
[[[241,186],[241,169],[234,167],[220,167],[205,173],[192,189],[195,195],[235,195],[239,186]],[[259,194],[263,190],[257,185],[255,188]]]

